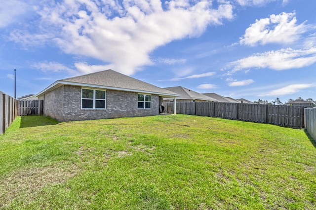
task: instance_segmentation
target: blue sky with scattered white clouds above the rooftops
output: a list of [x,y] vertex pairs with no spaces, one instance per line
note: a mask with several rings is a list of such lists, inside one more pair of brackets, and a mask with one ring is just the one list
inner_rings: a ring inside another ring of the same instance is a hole
[[316,0],[10,0],[0,91],[112,69],[250,101],[316,100]]

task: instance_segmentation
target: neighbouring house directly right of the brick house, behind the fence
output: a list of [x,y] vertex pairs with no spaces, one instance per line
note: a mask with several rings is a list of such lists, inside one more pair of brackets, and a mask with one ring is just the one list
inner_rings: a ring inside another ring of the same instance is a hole
[[[174,93],[181,95],[177,97],[177,102],[217,102],[216,99],[205,96],[203,94],[197,93],[193,90],[190,90],[185,87],[177,86],[177,87],[166,87],[163,88]],[[173,102],[173,98],[163,98],[165,102]]]

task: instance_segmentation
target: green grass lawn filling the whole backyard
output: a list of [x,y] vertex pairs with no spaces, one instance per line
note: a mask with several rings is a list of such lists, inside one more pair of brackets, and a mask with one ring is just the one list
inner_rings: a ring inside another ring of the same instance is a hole
[[0,209],[316,209],[300,129],[190,115],[60,123],[0,135]]

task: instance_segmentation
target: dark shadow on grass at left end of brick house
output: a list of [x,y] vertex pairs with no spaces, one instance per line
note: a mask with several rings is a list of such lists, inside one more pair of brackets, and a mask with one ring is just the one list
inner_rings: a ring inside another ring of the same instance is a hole
[[29,128],[29,127],[37,127],[37,126],[45,126],[45,125],[56,125],[60,122],[51,118],[45,117],[42,115],[34,115],[34,116],[21,116],[20,128]]

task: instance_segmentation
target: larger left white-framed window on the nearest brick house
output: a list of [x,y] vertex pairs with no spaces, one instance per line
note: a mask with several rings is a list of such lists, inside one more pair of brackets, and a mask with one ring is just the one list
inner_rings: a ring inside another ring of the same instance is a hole
[[84,89],[81,90],[81,108],[105,109],[105,90]]

